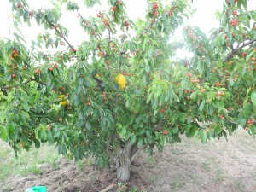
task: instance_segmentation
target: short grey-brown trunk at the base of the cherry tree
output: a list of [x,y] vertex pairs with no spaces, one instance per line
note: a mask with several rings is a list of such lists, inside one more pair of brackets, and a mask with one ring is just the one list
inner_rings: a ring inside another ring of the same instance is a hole
[[128,148],[121,149],[115,160],[117,168],[117,179],[119,183],[128,183],[131,176],[130,149],[127,149]]

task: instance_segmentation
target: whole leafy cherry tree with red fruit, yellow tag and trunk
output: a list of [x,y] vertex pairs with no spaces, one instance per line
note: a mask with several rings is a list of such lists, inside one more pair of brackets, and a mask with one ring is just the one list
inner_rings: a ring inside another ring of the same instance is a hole
[[[78,47],[60,23],[61,6],[74,13],[77,3],[10,3],[18,31],[31,20],[45,29],[30,48],[19,33],[0,40],[0,137],[16,152],[55,143],[75,160],[115,163],[119,182],[127,182],[138,151],[162,151],[182,134],[206,143],[241,125],[255,137],[256,12],[247,11],[246,0],[224,1],[210,38],[184,26],[194,54],[187,61],[172,61],[169,41],[189,17],[187,0],[148,1],[145,19],[136,22],[122,1],[108,0],[108,11],[78,15],[89,38]],[[58,46],[66,50],[50,49]]]

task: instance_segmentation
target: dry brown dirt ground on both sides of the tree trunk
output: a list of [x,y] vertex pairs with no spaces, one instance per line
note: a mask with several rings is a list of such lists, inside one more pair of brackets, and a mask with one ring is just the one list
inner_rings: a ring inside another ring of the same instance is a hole
[[[96,192],[117,183],[111,170],[82,170],[61,158],[58,168],[39,165],[41,175],[11,177],[2,183],[1,192],[24,192],[44,185],[49,192]],[[166,146],[164,153],[141,153],[132,165],[128,187],[148,192],[256,192],[256,141],[238,130],[229,141],[224,138],[202,145],[183,137],[182,143]],[[110,191],[115,191],[112,189]]]

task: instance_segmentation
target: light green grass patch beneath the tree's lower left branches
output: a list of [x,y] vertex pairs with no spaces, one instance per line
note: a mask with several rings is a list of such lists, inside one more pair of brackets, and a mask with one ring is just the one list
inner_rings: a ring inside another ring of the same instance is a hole
[[15,154],[8,143],[0,141],[0,181],[4,181],[10,176],[27,174],[41,175],[39,165],[49,163],[56,166],[59,154],[54,146],[42,145],[41,148],[31,148],[29,152],[22,150],[15,158]]

